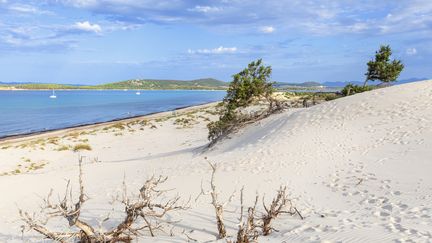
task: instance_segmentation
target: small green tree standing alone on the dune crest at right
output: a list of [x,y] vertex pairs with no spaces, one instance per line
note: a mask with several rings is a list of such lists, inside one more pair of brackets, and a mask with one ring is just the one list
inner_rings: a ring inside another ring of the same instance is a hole
[[365,74],[366,80],[363,86],[366,86],[367,81],[380,80],[381,82],[395,81],[402,72],[404,65],[400,60],[394,59],[390,61],[392,50],[389,45],[382,45],[375,53],[375,60],[367,63],[368,71]]

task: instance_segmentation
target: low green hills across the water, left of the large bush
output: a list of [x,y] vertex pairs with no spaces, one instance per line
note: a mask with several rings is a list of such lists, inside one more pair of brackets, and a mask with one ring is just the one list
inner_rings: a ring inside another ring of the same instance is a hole
[[17,89],[204,89],[224,90],[228,83],[220,80],[205,78],[189,81],[181,80],[157,80],[157,79],[133,79],[115,83],[100,85],[77,85],[77,84],[51,84],[51,83],[0,83],[3,86],[15,87]]

